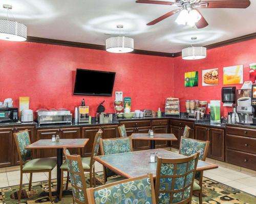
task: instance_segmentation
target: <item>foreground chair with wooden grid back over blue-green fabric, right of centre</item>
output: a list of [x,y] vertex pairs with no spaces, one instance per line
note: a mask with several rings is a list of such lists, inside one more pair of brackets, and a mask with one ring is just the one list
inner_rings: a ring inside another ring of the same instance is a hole
[[191,203],[199,154],[182,159],[159,157],[156,171],[156,203]]

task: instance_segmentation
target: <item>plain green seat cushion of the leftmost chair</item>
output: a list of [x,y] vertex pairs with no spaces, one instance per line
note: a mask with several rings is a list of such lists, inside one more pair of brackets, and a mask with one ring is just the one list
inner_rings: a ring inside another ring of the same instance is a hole
[[28,161],[23,165],[24,171],[31,171],[31,170],[45,170],[45,169],[53,169],[57,164],[57,159],[54,158],[40,158],[40,159],[33,159]]

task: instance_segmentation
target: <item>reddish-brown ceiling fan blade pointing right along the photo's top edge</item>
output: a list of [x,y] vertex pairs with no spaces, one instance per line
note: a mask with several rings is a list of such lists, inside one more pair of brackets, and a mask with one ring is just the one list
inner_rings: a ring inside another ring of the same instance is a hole
[[222,0],[222,1],[203,1],[200,8],[231,8],[246,9],[250,6],[249,0]]

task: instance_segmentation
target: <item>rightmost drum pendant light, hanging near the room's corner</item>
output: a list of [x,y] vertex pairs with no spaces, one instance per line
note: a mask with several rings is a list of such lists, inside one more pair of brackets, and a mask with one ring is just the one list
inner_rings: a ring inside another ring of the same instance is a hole
[[[192,37],[191,40],[196,40]],[[206,47],[186,47],[181,50],[183,60],[200,60],[206,58]]]

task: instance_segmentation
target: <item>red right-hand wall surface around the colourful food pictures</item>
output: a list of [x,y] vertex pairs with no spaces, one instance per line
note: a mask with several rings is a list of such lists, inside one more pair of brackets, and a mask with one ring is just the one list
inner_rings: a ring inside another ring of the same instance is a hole
[[[181,99],[181,110],[185,111],[185,100],[221,100],[221,88],[223,85],[223,67],[244,65],[244,81],[249,80],[249,64],[256,62],[256,39],[241,43],[207,50],[207,58],[203,60],[174,59],[174,95]],[[202,70],[219,68],[219,85],[202,86]],[[198,71],[198,87],[184,87],[184,73]],[[225,85],[241,88],[242,85]],[[230,108],[221,107],[222,115],[227,115]]]

